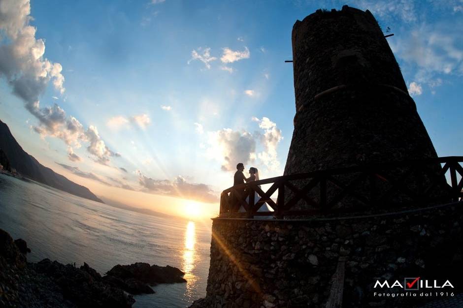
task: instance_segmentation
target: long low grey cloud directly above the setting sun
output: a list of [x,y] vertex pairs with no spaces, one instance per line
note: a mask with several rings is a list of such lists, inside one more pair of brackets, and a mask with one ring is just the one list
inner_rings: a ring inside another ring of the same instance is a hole
[[173,181],[169,181],[152,179],[145,176],[140,170],[137,170],[136,174],[138,175],[138,183],[146,192],[194,199],[206,203],[218,201],[217,195],[208,185],[188,183],[182,176],[178,176]]

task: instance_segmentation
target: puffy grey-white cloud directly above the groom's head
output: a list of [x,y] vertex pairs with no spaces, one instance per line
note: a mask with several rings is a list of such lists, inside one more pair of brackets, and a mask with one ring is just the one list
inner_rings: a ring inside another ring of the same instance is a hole
[[236,170],[236,164],[254,161],[256,152],[255,137],[247,131],[234,131],[230,128],[208,133],[209,158],[221,162],[223,171]]

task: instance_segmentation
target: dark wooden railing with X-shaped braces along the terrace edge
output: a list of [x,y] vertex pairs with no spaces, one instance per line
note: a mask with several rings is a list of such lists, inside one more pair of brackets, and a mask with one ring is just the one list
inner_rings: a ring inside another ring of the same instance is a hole
[[[222,192],[220,216],[282,218],[458,202],[463,197],[462,162],[463,156],[406,160],[249,182]],[[264,191],[261,185],[270,187]],[[264,204],[271,210],[262,211]]]

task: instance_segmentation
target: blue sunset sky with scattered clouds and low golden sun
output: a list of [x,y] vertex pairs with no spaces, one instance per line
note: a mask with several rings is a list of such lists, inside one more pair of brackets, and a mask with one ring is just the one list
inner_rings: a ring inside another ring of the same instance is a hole
[[395,34],[437,154],[463,154],[463,0],[0,0],[0,120],[98,196],[213,215],[236,163],[283,174],[293,24],[344,4]]

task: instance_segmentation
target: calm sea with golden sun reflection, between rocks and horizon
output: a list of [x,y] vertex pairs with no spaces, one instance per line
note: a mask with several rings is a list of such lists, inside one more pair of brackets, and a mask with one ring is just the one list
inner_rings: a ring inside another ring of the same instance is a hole
[[188,307],[206,293],[210,219],[140,214],[0,174],[0,228],[22,238],[32,252],[100,274],[117,264],[146,262],[185,272],[186,283],[159,284],[155,294],[134,296],[134,308]]

